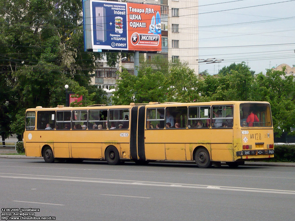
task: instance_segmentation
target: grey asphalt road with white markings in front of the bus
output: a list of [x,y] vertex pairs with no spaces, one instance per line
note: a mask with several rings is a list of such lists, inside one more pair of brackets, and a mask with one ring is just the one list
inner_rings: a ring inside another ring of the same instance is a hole
[[295,168],[0,159],[0,205],[56,220],[294,220]]

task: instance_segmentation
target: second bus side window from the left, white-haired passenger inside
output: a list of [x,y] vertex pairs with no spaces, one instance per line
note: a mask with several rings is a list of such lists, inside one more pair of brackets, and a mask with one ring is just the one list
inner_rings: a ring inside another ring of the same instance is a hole
[[45,130],[45,128],[48,128],[47,126],[50,127],[50,130],[55,128],[55,111],[38,111],[37,129]]

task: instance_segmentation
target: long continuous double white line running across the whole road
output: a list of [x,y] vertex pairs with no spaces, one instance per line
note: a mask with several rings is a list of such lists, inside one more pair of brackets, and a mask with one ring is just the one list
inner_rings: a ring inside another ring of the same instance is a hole
[[[4,174],[4,173],[0,173],[0,174]],[[151,181],[136,181],[136,180],[120,180],[120,179],[100,179],[100,178],[84,178],[84,177],[58,177],[58,176],[32,175],[32,174],[10,174],[10,175],[25,175],[25,176],[35,176],[35,177],[0,176],[0,178],[35,179],[35,180],[67,181],[67,182],[90,182],[90,183],[103,183],[103,184],[126,184],[126,185],[139,185],[139,186],[158,186],[158,187],[195,188],[195,189],[215,189],[215,190],[295,195],[294,190],[281,190],[281,189],[260,189],[260,188],[248,188],[248,187],[228,187],[228,186],[216,186],[216,185],[167,183],[167,182],[151,182]],[[214,187],[214,188],[210,188],[210,187]]]

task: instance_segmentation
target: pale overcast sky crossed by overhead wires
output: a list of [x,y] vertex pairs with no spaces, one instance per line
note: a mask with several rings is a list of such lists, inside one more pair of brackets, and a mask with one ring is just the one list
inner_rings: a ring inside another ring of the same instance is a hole
[[[199,63],[200,72],[207,69],[209,74],[217,74],[218,69],[242,61],[256,74],[282,63],[295,65],[294,0],[229,1],[233,0],[199,0],[199,59],[224,59]],[[229,3],[216,4],[220,2]],[[213,5],[203,6],[208,4]],[[236,9],[242,7],[248,8]],[[235,23],[242,24],[229,25]]]

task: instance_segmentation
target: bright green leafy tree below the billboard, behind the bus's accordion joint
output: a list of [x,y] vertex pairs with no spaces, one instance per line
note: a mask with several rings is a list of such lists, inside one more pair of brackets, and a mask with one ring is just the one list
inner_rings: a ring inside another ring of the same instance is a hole
[[[141,64],[138,75],[127,70],[119,73],[114,104],[150,101],[193,102],[199,99],[197,76],[186,64],[168,63],[160,57]],[[181,80],[180,80],[181,79]]]

